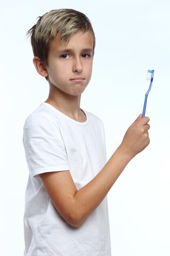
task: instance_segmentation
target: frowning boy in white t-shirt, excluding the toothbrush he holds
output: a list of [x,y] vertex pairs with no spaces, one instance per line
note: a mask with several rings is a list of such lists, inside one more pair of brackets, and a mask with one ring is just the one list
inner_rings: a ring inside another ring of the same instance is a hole
[[95,49],[91,22],[72,9],[53,10],[28,34],[49,97],[24,125],[24,255],[110,256],[106,195],[148,146],[149,118],[139,115],[106,163],[102,121],[80,108]]

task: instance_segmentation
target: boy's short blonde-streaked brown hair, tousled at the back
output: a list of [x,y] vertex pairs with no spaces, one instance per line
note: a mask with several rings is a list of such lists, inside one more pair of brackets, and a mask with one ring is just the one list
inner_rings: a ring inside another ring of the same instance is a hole
[[31,37],[34,56],[38,56],[44,65],[48,65],[49,44],[57,34],[63,45],[77,31],[91,31],[93,37],[93,55],[95,49],[95,34],[90,20],[84,13],[73,9],[58,9],[38,17],[37,23],[27,31]]

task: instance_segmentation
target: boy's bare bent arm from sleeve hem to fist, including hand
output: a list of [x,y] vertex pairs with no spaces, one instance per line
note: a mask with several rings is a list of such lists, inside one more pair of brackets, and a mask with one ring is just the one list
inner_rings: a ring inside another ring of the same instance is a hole
[[148,117],[139,115],[104,168],[79,190],[69,171],[40,174],[55,208],[66,222],[74,227],[82,225],[105,198],[128,162],[148,146],[148,121]]

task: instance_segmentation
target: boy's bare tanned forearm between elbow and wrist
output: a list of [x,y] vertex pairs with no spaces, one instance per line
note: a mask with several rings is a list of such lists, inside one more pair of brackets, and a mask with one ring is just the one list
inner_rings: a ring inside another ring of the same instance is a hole
[[127,153],[117,148],[95,178],[75,193],[73,209],[77,219],[74,226],[79,227],[99,206],[130,160]]

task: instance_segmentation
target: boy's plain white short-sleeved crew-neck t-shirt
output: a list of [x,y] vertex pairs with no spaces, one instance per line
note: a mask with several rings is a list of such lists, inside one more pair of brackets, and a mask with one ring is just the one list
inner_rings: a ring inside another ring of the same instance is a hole
[[40,173],[70,170],[77,189],[106,164],[102,121],[85,112],[80,123],[42,103],[24,125],[29,167],[24,213],[24,256],[110,256],[107,198],[78,228],[57,212]]

